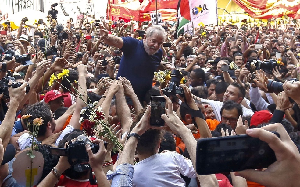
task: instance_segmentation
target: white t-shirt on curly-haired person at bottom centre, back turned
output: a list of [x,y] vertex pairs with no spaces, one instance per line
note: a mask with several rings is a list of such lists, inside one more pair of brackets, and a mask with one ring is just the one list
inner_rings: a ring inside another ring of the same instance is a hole
[[192,161],[176,152],[155,154],[134,165],[133,186],[185,186],[180,173],[189,178],[197,175]]

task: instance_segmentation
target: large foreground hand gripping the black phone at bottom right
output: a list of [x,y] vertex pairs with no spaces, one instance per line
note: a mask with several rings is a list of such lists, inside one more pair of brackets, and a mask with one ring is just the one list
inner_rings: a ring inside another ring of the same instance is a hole
[[[280,138],[269,131],[276,131]],[[263,186],[282,187],[283,184],[284,186],[300,186],[298,179],[300,154],[280,123],[270,124],[262,128],[247,129],[246,133],[268,143],[270,148],[274,150],[277,161],[264,171],[248,169],[234,172],[234,175]]]

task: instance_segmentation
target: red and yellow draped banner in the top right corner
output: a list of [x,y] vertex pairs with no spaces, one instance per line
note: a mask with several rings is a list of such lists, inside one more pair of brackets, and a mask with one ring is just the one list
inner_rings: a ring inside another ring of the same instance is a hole
[[300,18],[300,0],[233,0],[253,18]]

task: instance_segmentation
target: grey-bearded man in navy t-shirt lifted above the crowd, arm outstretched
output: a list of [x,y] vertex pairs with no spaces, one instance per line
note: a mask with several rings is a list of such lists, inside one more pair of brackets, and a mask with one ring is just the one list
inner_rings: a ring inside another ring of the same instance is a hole
[[105,43],[120,48],[123,52],[117,77],[126,77],[141,100],[152,87],[153,73],[160,65],[163,51],[160,49],[166,31],[160,25],[147,29],[143,40],[118,37],[108,34],[101,26],[100,36]]

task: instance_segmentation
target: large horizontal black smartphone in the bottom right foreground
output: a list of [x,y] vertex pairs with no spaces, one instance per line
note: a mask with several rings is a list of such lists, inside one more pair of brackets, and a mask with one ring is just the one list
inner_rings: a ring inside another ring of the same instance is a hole
[[[279,138],[277,132],[273,132]],[[196,172],[199,175],[262,169],[276,161],[269,145],[247,134],[202,138],[196,151]]]

